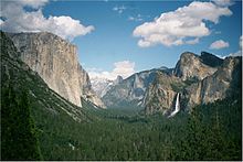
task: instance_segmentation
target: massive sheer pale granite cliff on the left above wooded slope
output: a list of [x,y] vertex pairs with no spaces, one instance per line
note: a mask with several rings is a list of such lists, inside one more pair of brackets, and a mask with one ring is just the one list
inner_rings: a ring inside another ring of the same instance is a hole
[[76,46],[52,33],[8,34],[20,58],[52,88],[71,102],[82,106],[81,97],[102,106],[92,90],[87,73],[78,64]]

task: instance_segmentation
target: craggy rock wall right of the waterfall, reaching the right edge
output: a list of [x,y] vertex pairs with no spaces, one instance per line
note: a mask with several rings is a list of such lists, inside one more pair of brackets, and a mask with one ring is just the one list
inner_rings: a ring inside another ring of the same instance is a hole
[[213,102],[234,93],[234,86],[241,83],[241,57],[226,57],[211,76],[187,88],[188,107]]

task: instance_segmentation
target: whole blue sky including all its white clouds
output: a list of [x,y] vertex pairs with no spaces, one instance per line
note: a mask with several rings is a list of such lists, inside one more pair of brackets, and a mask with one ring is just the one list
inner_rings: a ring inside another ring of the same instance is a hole
[[187,51],[220,57],[242,51],[242,2],[232,0],[1,1],[0,26],[68,40],[91,78],[175,67]]

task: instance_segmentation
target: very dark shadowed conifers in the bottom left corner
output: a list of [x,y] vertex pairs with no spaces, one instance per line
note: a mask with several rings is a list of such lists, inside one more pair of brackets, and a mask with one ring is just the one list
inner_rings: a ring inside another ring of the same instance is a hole
[[9,85],[1,94],[1,160],[40,160],[27,93]]

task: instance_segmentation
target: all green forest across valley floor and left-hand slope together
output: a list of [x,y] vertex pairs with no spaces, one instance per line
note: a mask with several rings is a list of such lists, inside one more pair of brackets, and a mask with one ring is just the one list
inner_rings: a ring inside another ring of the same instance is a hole
[[38,140],[43,160],[242,160],[241,95],[169,119],[96,109],[85,100],[80,108],[2,44],[9,48],[1,51],[1,160],[40,160]]

